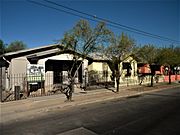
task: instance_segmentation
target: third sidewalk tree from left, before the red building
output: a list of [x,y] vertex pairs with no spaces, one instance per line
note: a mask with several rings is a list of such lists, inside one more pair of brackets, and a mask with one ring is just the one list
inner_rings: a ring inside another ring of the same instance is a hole
[[143,47],[139,47],[136,53],[136,56],[141,58],[144,63],[150,65],[151,70],[151,86],[153,86],[153,78],[155,75],[155,68],[157,65],[157,53],[158,50],[153,45],[144,45]]

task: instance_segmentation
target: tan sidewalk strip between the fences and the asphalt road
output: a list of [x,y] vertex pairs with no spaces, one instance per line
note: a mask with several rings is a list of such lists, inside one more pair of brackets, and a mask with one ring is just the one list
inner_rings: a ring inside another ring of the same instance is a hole
[[24,100],[11,101],[0,103],[0,123],[18,121],[22,119],[34,118],[37,116],[46,115],[55,110],[64,110],[69,107],[77,105],[85,105],[89,103],[96,103],[105,100],[117,99],[122,97],[135,96],[142,93],[158,91],[170,87],[180,87],[177,85],[156,85],[155,87],[146,86],[128,86],[120,87],[119,93],[114,93],[112,90],[99,89],[87,92],[79,92],[73,94],[74,102],[65,102],[65,95],[51,95],[43,97],[34,97]]

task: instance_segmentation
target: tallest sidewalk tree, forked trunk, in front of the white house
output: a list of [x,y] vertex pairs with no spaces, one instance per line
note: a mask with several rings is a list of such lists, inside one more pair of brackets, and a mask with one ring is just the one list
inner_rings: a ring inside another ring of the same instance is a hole
[[[106,28],[105,23],[100,22],[94,28],[86,20],[80,20],[68,32],[64,34],[61,43],[65,45],[65,51],[71,50],[73,55],[73,64],[69,70],[69,93],[66,93],[67,100],[72,99],[74,91],[75,75],[83,63],[83,60],[90,54],[94,53],[96,46],[106,44],[109,40],[111,31]],[[81,58],[81,63],[78,60]]]

